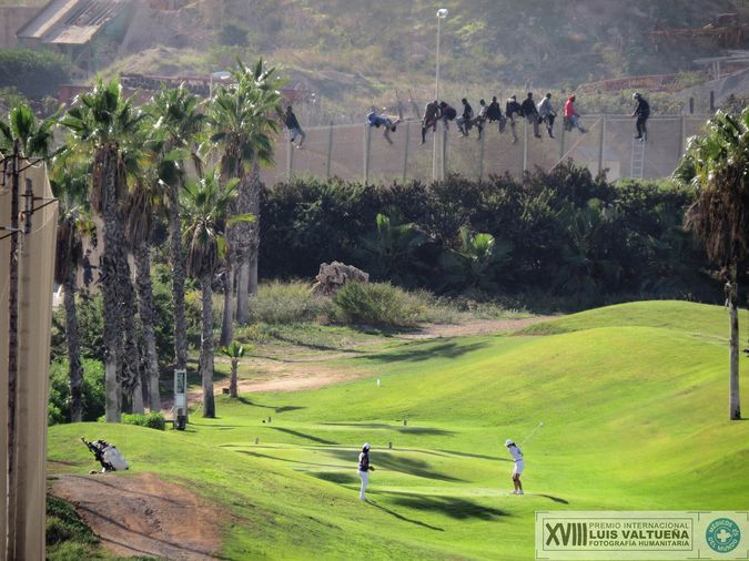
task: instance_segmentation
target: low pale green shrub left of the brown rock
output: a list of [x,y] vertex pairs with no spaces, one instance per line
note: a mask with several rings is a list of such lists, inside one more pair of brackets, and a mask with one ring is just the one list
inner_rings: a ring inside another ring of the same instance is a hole
[[315,322],[331,313],[330,298],[315,296],[298,280],[263,284],[250,298],[250,317],[265,324]]

